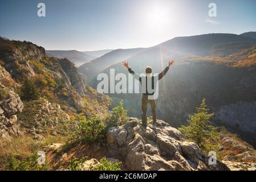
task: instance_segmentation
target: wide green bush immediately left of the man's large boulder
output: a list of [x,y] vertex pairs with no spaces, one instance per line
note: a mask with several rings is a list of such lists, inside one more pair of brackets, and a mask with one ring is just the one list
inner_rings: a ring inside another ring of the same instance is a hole
[[83,119],[78,122],[78,127],[73,132],[70,142],[92,143],[103,138],[106,131],[107,125],[99,117]]

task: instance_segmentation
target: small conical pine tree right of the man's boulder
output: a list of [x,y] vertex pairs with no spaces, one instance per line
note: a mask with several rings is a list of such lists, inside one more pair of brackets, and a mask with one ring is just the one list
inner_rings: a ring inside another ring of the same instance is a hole
[[205,98],[197,107],[196,113],[189,115],[188,126],[182,125],[178,130],[185,135],[192,142],[196,142],[201,150],[209,152],[210,150],[217,150],[218,147],[213,144],[218,139],[217,128],[213,127],[210,118],[213,113],[208,113],[209,109],[205,104]]

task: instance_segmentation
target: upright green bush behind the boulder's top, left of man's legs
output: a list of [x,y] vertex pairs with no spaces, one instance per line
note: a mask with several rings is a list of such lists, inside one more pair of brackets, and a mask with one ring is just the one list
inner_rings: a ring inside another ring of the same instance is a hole
[[111,113],[107,115],[106,121],[109,127],[121,126],[128,121],[127,110],[123,107],[123,101],[120,101],[119,106],[113,108]]

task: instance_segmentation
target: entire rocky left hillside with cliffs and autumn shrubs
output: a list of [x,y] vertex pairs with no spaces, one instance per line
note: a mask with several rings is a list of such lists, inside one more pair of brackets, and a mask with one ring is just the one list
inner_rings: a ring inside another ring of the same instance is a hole
[[[30,80],[38,100],[23,99],[22,86]],[[23,132],[40,139],[62,134],[68,114],[104,114],[110,100],[86,85],[68,59],[48,57],[43,47],[31,42],[0,38],[0,134]],[[67,114],[68,113],[68,114]],[[57,129],[58,128],[58,129]],[[21,132],[22,131],[22,132]]]

